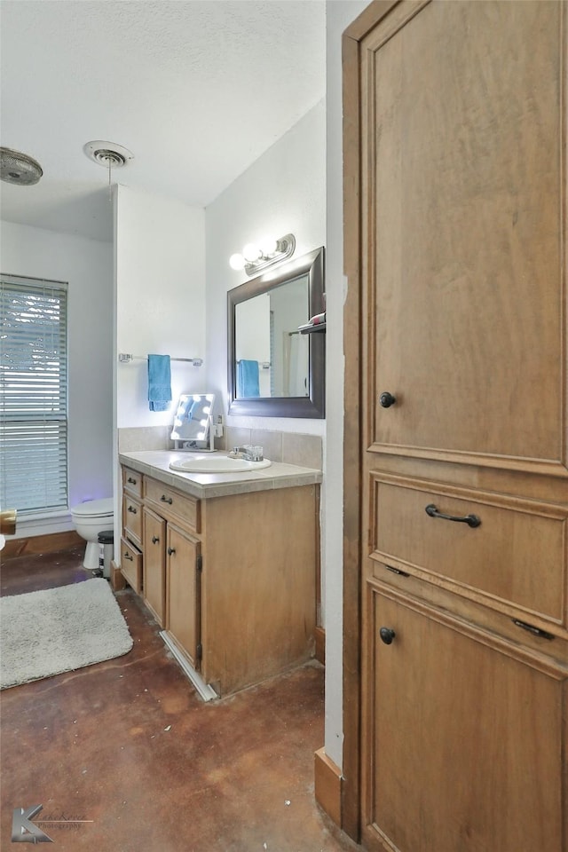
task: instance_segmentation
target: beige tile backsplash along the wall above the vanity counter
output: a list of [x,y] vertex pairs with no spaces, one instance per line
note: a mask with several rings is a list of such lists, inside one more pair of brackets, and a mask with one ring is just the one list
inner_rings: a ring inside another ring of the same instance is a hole
[[[118,452],[138,450],[170,450],[171,426],[141,426],[118,430]],[[260,444],[264,456],[271,461],[284,461],[304,468],[322,469],[322,440],[319,435],[300,432],[279,432],[269,429],[241,429],[225,426],[223,438],[217,438],[217,449],[230,450],[243,444]]]

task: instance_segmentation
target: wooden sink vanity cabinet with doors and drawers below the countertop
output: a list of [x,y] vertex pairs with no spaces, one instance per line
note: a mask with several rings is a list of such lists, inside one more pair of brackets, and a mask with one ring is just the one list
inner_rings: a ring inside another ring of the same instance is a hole
[[[313,655],[318,487],[196,500],[143,478],[144,601],[218,695]],[[132,500],[125,486],[130,547]],[[128,566],[121,568],[130,582]]]

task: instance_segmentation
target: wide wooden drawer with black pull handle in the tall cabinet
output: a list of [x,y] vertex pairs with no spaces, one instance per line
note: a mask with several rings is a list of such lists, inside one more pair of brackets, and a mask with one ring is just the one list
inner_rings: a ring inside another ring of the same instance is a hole
[[[568,507],[403,477],[374,479],[374,557],[412,566],[454,592],[566,623]],[[427,506],[481,523],[430,517]]]

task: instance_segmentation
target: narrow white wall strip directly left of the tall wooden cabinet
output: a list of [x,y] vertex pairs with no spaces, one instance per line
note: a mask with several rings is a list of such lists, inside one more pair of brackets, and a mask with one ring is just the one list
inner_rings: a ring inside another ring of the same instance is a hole
[[[326,735],[327,756],[343,757],[343,106],[341,37],[367,0],[327,2],[327,439],[322,512],[326,554]],[[349,419],[348,419],[349,422]],[[356,439],[356,428],[345,432]],[[333,629],[331,626],[333,625]]]

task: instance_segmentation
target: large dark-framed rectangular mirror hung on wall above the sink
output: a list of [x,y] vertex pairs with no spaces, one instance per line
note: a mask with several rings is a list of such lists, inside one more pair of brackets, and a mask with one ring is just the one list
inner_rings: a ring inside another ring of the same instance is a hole
[[298,328],[325,311],[323,248],[229,290],[229,414],[325,416],[325,332]]

